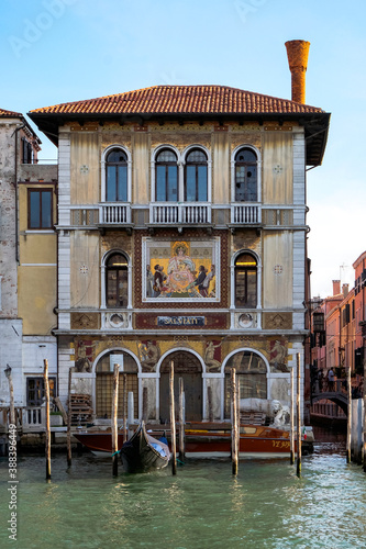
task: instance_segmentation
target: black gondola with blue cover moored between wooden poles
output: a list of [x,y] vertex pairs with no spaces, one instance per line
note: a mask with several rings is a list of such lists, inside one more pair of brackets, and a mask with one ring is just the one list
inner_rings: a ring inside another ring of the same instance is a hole
[[166,467],[170,451],[166,438],[152,437],[146,433],[144,422],[141,422],[130,440],[122,446],[121,458],[126,472],[148,472]]

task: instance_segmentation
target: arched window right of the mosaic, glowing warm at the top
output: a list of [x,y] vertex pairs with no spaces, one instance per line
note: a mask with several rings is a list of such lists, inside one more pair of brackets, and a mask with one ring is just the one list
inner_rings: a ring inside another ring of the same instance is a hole
[[235,307],[257,306],[257,261],[252,254],[235,259]]

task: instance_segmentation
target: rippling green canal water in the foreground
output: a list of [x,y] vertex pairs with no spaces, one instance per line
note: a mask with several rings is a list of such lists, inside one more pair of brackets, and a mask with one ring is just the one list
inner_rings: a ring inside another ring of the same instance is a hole
[[177,469],[112,478],[88,453],[19,459],[16,541],[10,531],[7,458],[0,460],[0,547],[356,548],[366,547],[366,474],[346,464],[344,435],[317,430],[302,477],[287,460],[191,460]]

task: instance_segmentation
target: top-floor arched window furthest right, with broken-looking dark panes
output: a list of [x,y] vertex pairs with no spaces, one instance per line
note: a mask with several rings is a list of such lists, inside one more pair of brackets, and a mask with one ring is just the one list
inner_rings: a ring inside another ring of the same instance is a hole
[[257,201],[257,157],[251,148],[235,155],[235,202]]

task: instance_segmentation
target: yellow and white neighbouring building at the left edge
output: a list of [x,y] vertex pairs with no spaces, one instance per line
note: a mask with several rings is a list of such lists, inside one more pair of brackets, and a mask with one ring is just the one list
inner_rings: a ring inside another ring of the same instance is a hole
[[56,380],[57,166],[40,165],[40,150],[24,116],[0,109],[0,408],[8,365],[16,407],[42,402],[43,356]]

